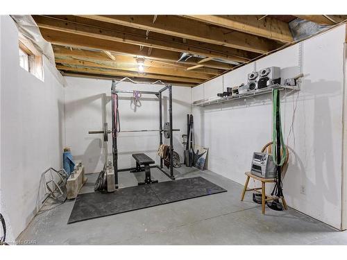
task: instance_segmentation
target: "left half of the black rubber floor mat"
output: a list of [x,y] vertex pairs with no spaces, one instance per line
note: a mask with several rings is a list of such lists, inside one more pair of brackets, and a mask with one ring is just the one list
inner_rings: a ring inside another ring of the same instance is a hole
[[85,193],[76,198],[68,224],[160,205],[149,185],[117,189],[113,193]]

